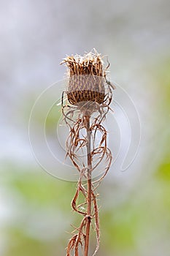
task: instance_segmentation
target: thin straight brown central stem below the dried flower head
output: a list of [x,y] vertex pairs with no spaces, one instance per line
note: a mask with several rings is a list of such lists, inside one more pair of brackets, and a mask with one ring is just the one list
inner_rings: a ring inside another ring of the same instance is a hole
[[85,256],[88,256],[89,248],[89,236],[90,236],[90,224],[91,224],[91,170],[92,170],[92,159],[90,154],[90,116],[85,116],[85,126],[87,129],[87,157],[88,157],[88,195],[87,195],[87,225],[85,233]]

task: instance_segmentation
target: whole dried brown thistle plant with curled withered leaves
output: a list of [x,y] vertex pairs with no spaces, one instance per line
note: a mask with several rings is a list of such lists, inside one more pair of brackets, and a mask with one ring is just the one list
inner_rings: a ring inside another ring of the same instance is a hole
[[[84,56],[67,56],[65,63],[69,71],[67,90],[62,95],[62,112],[69,126],[69,137],[66,140],[66,152],[72,163],[80,172],[77,190],[72,200],[72,208],[82,214],[80,227],[76,227],[69,241],[66,256],[88,256],[90,226],[96,231],[96,255],[100,242],[100,227],[98,217],[98,196],[96,188],[107,174],[112,162],[112,154],[107,148],[107,131],[101,122],[109,111],[112,101],[112,84],[107,81],[103,61],[94,50]],[[66,96],[66,105],[63,97]],[[97,135],[99,140],[96,140]],[[98,178],[93,173],[101,167]],[[80,202],[80,195],[84,200]]]

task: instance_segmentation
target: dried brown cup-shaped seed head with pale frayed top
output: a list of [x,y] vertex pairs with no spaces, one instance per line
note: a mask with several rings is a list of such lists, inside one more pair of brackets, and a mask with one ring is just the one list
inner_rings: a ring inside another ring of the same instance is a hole
[[94,50],[84,56],[67,56],[61,64],[68,67],[69,84],[66,91],[70,104],[97,102],[105,97],[105,72],[100,54]]

